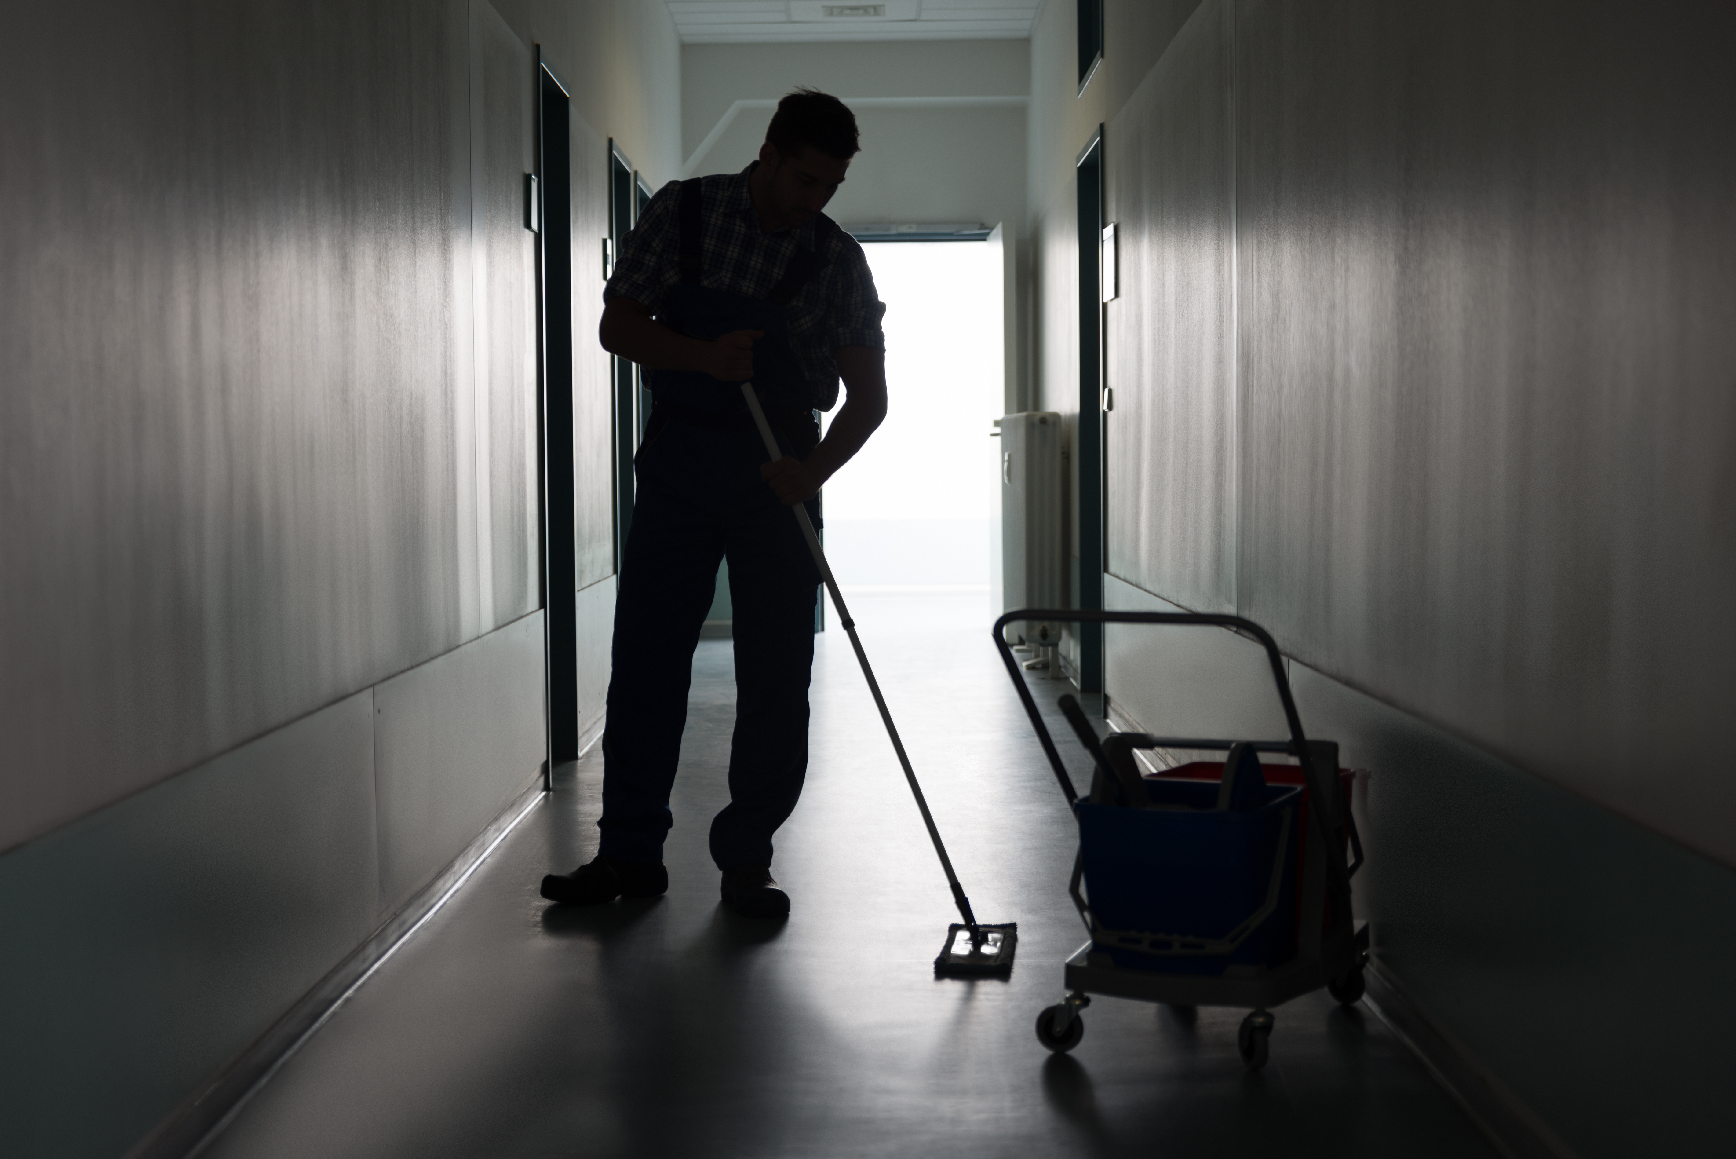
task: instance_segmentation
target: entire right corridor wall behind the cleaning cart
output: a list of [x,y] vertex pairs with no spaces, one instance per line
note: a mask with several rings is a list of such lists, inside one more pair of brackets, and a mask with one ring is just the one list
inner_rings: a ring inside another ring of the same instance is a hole
[[[1069,169],[1106,125],[1111,605],[1279,639],[1371,770],[1380,970],[1542,1145],[1719,1154],[1729,16],[1207,0],[1137,40],[1151,10],[1108,7],[1102,70],[1149,64],[1075,96],[1045,5],[1029,153],[1035,386],[1068,410]],[[1111,634],[1111,719],[1271,730],[1245,650]]]

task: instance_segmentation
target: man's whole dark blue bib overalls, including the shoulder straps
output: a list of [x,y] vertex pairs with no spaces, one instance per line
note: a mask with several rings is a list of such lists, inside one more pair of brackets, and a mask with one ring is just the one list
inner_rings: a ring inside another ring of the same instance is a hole
[[[806,457],[819,424],[788,344],[786,306],[819,269],[823,231],[835,226],[821,217],[814,248],[797,248],[771,294],[753,299],[700,283],[698,181],[682,184],[679,222],[681,283],[660,321],[705,341],[764,330],[753,344],[753,382],[779,448]],[[790,511],[760,478],[766,447],[741,387],[694,372],[648,377],[654,407],[634,457],[639,487],[615,605],[599,851],[625,862],[663,860],[693,652],[727,558],[736,726],[729,805],[712,822],[710,848],[719,869],[769,865],[773,832],[795,808],[807,773],[819,570]],[[809,502],[809,514],[819,514],[818,502]]]

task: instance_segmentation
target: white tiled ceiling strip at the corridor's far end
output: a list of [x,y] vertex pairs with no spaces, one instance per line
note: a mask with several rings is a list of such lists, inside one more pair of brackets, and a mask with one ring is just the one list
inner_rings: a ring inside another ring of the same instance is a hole
[[665,0],[682,43],[1024,40],[1043,0]]

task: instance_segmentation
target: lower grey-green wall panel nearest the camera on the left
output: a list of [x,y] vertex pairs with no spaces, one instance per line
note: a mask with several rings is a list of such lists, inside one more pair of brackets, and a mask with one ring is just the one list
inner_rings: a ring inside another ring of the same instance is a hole
[[0,858],[0,1152],[127,1149],[375,924],[373,695]]

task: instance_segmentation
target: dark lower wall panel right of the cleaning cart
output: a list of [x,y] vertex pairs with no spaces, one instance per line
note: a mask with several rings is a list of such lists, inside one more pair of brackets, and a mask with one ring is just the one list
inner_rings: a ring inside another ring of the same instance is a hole
[[1722,1156],[1736,874],[1300,664],[1380,966],[1581,1156]]

